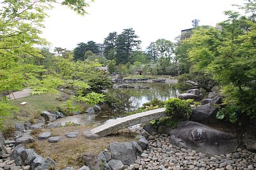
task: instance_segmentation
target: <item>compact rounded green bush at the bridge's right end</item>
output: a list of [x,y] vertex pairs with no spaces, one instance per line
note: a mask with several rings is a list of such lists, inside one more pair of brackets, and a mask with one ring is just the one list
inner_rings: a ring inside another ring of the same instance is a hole
[[193,99],[180,100],[178,98],[170,98],[165,101],[165,112],[172,120],[189,120],[192,109],[189,104],[193,103]]

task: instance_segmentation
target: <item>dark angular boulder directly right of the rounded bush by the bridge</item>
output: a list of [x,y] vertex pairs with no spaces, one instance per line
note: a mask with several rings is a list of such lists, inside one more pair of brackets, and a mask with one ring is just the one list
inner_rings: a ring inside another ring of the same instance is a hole
[[217,108],[209,104],[204,104],[193,108],[191,113],[191,121],[199,123],[214,123],[216,122]]

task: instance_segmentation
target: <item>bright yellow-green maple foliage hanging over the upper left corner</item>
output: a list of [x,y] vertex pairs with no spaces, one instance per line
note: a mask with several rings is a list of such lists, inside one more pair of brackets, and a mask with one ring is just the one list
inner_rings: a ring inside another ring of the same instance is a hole
[[[22,90],[26,85],[35,87],[35,92],[42,93],[55,89],[58,80],[44,76],[42,66],[43,53],[34,46],[47,45],[45,39],[40,38],[43,22],[47,13],[55,3],[60,3],[84,15],[85,1],[70,0],[38,0],[38,1],[1,1],[0,7],[0,125],[4,117],[10,117],[15,110],[4,99],[5,94]],[[28,64],[30,62],[30,64]],[[47,62],[49,64],[49,62]],[[45,64],[45,63],[44,63]],[[44,80],[46,78],[46,80]],[[44,87],[44,85],[46,87]],[[48,89],[49,88],[49,89]]]

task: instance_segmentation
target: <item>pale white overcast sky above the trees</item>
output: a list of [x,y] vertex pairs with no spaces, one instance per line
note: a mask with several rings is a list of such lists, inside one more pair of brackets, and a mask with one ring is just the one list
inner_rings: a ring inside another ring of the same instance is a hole
[[132,28],[145,50],[150,42],[164,38],[175,41],[191,21],[211,25],[226,20],[225,10],[235,10],[231,4],[244,0],[95,0],[83,17],[65,6],[48,11],[42,37],[54,47],[76,48],[77,43],[103,43],[109,32]]

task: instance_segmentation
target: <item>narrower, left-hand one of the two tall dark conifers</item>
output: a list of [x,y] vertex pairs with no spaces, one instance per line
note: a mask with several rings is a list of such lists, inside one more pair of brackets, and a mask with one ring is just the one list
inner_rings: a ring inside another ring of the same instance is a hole
[[110,32],[108,36],[104,39],[104,56],[108,60],[113,60],[116,54],[116,40],[117,32]]

